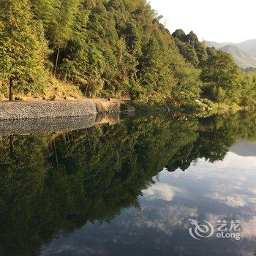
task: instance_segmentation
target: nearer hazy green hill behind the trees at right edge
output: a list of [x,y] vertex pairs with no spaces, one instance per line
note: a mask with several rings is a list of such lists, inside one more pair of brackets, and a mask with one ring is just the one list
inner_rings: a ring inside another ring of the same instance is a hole
[[219,48],[219,50],[231,53],[236,64],[243,69],[246,69],[247,67],[256,67],[256,56],[241,50],[241,48],[238,48],[236,45],[226,45]]

